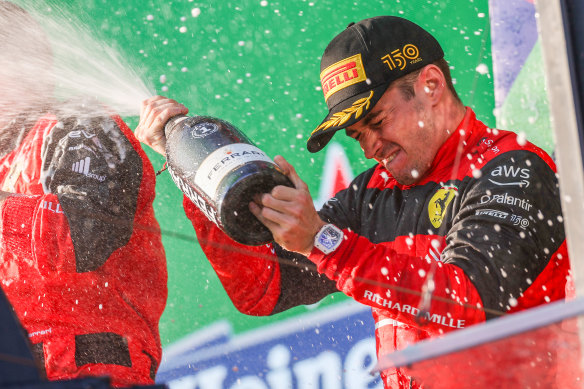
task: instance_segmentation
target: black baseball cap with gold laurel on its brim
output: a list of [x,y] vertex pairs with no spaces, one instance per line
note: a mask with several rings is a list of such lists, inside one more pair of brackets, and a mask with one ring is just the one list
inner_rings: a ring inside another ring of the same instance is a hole
[[316,153],[335,132],[364,118],[391,82],[443,57],[438,41],[407,19],[377,16],[349,24],[320,62],[329,113],[310,134],[308,151]]

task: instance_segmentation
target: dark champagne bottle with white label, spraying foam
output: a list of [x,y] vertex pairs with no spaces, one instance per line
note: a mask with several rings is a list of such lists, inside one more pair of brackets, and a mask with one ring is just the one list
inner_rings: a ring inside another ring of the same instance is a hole
[[165,134],[174,183],[209,220],[239,243],[270,242],[249,202],[274,186],[293,187],[270,157],[231,123],[209,116],[175,116]]

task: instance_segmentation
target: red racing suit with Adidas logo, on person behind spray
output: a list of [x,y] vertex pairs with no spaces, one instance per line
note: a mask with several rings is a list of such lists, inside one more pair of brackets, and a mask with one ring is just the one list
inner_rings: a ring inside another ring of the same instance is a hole
[[108,115],[4,131],[19,141],[0,159],[0,279],[47,378],[152,384],[167,272],[139,142]]

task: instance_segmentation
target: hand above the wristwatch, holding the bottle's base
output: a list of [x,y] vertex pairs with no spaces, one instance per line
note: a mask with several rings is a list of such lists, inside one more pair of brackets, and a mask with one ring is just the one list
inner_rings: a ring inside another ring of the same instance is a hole
[[249,204],[250,211],[272,232],[274,240],[286,250],[310,254],[314,236],[326,223],[320,218],[296,170],[283,157],[274,158],[294,188],[276,186]]

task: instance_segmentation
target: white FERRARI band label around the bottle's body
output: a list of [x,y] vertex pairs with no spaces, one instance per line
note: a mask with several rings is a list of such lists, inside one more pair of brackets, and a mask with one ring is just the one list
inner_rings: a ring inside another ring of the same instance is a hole
[[266,153],[253,145],[233,143],[223,146],[201,163],[195,174],[195,184],[207,196],[215,199],[221,180],[238,167],[253,161],[274,163]]

